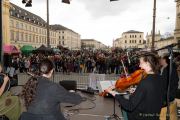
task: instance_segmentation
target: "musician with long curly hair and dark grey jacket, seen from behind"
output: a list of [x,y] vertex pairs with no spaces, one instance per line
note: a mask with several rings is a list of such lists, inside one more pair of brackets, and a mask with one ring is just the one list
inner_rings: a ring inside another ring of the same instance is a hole
[[79,104],[81,96],[49,80],[53,73],[53,63],[49,59],[41,61],[39,70],[41,75],[30,78],[23,89],[27,112],[20,120],[65,120],[60,103]]

